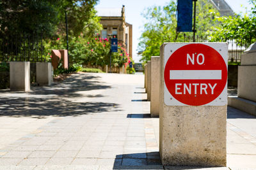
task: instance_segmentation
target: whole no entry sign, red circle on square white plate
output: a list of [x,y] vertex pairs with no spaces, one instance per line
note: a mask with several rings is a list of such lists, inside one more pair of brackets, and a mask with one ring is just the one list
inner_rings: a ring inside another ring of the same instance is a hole
[[168,106],[227,104],[227,44],[166,44],[164,103]]

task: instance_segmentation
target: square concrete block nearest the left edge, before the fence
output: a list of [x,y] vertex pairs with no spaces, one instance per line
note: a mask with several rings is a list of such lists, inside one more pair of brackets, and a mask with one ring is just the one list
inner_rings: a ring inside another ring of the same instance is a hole
[[10,62],[10,90],[30,90],[30,62]]

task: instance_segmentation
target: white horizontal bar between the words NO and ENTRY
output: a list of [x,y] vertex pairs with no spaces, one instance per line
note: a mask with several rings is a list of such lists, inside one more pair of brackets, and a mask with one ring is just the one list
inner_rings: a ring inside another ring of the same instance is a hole
[[170,70],[170,80],[221,80],[221,70]]

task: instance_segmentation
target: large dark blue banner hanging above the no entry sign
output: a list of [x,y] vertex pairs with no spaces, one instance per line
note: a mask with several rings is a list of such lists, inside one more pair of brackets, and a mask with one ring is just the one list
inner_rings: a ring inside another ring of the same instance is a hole
[[178,0],[178,32],[192,32],[193,0]]

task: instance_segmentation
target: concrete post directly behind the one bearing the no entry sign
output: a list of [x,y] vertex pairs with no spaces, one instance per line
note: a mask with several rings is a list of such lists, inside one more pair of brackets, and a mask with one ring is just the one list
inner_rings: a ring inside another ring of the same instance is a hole
[[160,58],[159,56],[151,57],[151,117],[159,116],[159,87],[160,87]]

